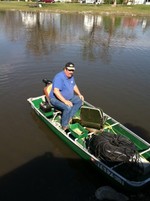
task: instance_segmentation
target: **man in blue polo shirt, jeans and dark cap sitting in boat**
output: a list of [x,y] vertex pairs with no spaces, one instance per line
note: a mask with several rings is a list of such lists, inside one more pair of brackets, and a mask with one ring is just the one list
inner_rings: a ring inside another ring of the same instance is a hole
[[75,83],[74,71],[74,64],[68,62],[63,71],[55,75],[49,95],[51,104],[62,111],[61,125],[64,130],[68,128],[69,122],[84,101],[84,97]]

